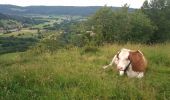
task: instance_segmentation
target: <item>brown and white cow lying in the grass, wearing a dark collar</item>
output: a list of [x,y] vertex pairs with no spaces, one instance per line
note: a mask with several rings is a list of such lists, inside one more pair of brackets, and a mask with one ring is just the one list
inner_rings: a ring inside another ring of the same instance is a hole
[[128,77],[142,78],[147,68],[147,61],[139,50],[123,48],[113,57],[111,63],[103,68],[106,69],[113,63],[116,64],[121,76],[126,73]]

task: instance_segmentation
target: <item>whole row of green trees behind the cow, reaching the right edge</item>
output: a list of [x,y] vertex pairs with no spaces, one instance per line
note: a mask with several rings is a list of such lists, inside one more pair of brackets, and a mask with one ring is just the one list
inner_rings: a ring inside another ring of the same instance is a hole
[[69,34],[62,36],[78,46],[115,42],[154,44],[170,40],[169,0],[146,0],[140,9],[133,12],[128,9],[127,4],[116,11],[104,6],[87,21],[71,24]]

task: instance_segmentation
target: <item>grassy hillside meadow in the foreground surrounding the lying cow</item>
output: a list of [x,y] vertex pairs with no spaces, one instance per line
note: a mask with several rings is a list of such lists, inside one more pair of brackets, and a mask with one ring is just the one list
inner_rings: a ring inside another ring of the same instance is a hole
[[[144,52],[149,61],[144,78],[121,77],[114,67],[102,69],[122,47]],[[0,99],[169,100],[169,50],[168,43],[114,44],[4,54],[0,56]]]

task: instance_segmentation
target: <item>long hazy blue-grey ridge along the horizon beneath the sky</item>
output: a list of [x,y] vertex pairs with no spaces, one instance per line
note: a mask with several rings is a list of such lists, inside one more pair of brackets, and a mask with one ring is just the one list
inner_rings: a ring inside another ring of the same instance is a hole
[[[40,15],[90,15],[95,13],[101,6],[77,7],[77,6],[27,6],[0,5],[0,13],[5,14],[40,14]],[[120,7],[113,7],[118,9]],[[129,9],[133,11],[134,9]]]

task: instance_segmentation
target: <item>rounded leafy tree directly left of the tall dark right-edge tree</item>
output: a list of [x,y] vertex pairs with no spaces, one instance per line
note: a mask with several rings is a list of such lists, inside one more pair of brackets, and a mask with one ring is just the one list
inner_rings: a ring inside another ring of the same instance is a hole
[[129,41],[150,43],[150,38],[156,30],[151,20],[140,10],[131,14],[131,31],[127,35]]

